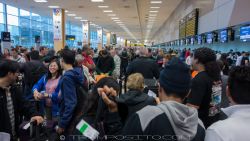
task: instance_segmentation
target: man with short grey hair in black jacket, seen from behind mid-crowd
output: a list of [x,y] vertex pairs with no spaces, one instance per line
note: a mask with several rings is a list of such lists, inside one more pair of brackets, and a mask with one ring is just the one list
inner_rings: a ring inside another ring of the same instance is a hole
[[158,79],[159,69],[156,62],[147,57],[147,48],[140,48],[140,57],[133,60],[127,67],[126,75],[141,73],[145,79]]

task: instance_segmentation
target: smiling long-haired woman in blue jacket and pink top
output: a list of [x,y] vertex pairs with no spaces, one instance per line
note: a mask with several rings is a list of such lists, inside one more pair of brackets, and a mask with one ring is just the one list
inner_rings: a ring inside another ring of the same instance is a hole
[[35,100],[44,103],[45,117],[48,120],[57,121],[59,116],[59,80],[62,69],[57,59],[52,59],[49,63],[48,73],[40,78],[33,86],[33,96]]

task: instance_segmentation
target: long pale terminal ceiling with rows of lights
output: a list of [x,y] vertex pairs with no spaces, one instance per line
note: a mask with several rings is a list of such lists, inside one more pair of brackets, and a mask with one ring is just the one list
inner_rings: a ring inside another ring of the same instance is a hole
[[[172,14],[182,0],[161,0],[160,4],[153,4],[156,0],[104,0],[104,2],[91,2],[91,0],[47,0],[47,3],[36,3],[34,0],[0,0],[6,4],[31,10],[43,16],[52,16],[48,6],[56,5],[67,10],[67,14],[76,14],[104,29],[116,33],[119,37],[131,41],[143,42],[150,40],[156,31]],[[99,8],[98,6],[108,6]],[[154,7],[154,8],[150,8]],[[112,10],[112,13],[104,13]],[[151,13],[149,11],[158,11]],[[115,14],[123,25],[118,25],[108,14]],[[148,19],[150,17],[150,19]],[[81,24],[79,19],[66,16],[67,20]]]

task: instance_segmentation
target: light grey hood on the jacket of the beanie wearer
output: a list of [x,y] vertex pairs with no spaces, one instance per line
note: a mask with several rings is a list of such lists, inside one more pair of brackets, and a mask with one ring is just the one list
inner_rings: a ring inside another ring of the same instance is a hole
[[195,108],[175,101],[163,101],[157,107],[167,115],[178,141],[192,140],[198,124],[204,127]]

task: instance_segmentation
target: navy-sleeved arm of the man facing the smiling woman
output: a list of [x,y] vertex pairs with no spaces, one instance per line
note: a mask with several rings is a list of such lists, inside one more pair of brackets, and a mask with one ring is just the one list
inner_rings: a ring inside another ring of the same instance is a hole
[[60,116],[59,127],[65,129],[73,116],[77,104],[77,96],[73,80],[65,78],[62,83],[62,99],[64,99],[65,109],[62,116]]

